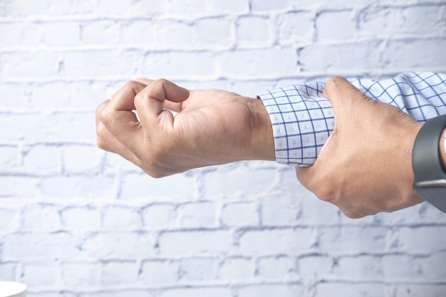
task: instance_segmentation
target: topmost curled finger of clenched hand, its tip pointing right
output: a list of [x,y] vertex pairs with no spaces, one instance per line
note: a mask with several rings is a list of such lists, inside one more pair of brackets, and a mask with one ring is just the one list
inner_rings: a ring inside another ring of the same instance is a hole
[[[189,94],[189,90],[181,88],[168,80],[153,81],[135,97],[135,107],[138,110],[142,125],[153,125],[160,120],[159,116],[165,108],[166,100],[173,103],[182,103],[189,98]],[[170,121],[173,120],[171,113],[168,113],[167,117]]]

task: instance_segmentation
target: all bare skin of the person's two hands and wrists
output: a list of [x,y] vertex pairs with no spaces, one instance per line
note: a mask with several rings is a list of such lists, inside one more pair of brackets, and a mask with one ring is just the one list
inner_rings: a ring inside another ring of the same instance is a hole
[[[344,78],[329,80],[323,95],[333,105],[335,129],[313,166],[296,167],[299,181],[351,218],[424,201],[413,192],[411,161],[422,124],[367,98]],[[96,110],[96,132],[100,148],[152,177],[239,160],[275,160],[261,100],[224,90],[187,90],[168,80],[124,85]],[[446,168],[442,141],[439,149]]]

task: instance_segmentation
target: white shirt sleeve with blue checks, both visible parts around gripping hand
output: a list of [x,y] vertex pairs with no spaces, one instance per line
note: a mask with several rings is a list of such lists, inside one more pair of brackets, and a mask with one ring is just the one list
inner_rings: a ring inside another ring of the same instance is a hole
[[[362,93],[395,105],[424,123],[446,114],[446,74],[402,73],[387,80],[349,79]],[[334,129],[331,103],[322,93],[325,83],[303,83],[259,93],[274,132],[276,160],[309,166]]]

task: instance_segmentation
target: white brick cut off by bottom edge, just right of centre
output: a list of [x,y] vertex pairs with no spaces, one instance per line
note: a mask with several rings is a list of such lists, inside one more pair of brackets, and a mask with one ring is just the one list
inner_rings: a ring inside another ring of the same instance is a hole
[[301,296],[303,288],[299,285],[256,285],[239,288],[239,297]]

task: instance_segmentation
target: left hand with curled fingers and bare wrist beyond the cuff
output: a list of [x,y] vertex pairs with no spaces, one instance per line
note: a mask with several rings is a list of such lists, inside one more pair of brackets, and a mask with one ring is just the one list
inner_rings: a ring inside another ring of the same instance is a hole
[[239,160],[275,160],[261,100],[224,90],[186,90],[167,80],[127,83],[96,110],[96,132],[100,148],[152,177]]

